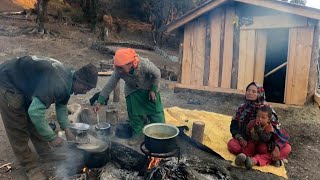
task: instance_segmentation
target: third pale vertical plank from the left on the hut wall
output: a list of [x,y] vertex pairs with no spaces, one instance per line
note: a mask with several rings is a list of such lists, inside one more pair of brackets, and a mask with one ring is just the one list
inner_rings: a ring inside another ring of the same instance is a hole
[[210,73],[208,86],[218,87],[219,81],[219,66],[220,66],[220,36],[223,9],[214,10],[209,16],[210,25]]

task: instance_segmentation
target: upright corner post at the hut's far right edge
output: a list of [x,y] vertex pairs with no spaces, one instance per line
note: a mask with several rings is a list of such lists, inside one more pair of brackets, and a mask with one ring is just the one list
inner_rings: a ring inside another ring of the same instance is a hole
[[315,25],[315,30],[313,34],[313,46],[311,52],[311,61],[310,61],[310,73],[309,73],[309,83],[308,83],[308,93],[306,102],[313,102],[314,93],[317,89],[318,82],[318,58],[319,58],[319,36],[320,36],[320,21]]

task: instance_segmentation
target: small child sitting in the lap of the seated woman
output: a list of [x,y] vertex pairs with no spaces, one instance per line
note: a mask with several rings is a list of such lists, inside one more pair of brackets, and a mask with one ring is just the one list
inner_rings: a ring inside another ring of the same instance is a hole
[[[271,151],[274,148],[273,133],[274,129],[270,123],[272,109],[268,106],[262,106],[255,120],[249,122],[246,128],[248,136],[247,147],[243,153],[237,155],[235,164],[237,166],[245,165],[249,170],[252,166],[265,166],[272,163]],[[280,166],[281,161],[276,162],[275,166]]]

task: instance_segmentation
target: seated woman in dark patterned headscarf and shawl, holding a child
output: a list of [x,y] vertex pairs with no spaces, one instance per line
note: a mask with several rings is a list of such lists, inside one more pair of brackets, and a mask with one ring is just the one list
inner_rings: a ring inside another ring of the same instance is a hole
[[[265,101],[264,89],[261,85],[252,82],[246,88],[246,101],[238,107],[238,110],[232,118],[230,132],[232,139],[228,142],[228,149],[232,154],[243,153],[247,147],[246,127],[251,120],[255,120],[258,109],[261,106],[270,106]],[[272,162],[286,159],[291,152],[291,146],[288,143],[288,133],[280,128],[278,116],[272,109],[271,124],[274,128],[273,142],[268,145],[271,152]]]

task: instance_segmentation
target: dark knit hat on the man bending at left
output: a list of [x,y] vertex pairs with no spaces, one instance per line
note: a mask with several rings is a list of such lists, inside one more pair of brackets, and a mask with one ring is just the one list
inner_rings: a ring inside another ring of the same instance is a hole
[[98,81],[98,70],[93,64],[89,63],[78,69],[74,73],[74,78],[81,84],[95,88]]

